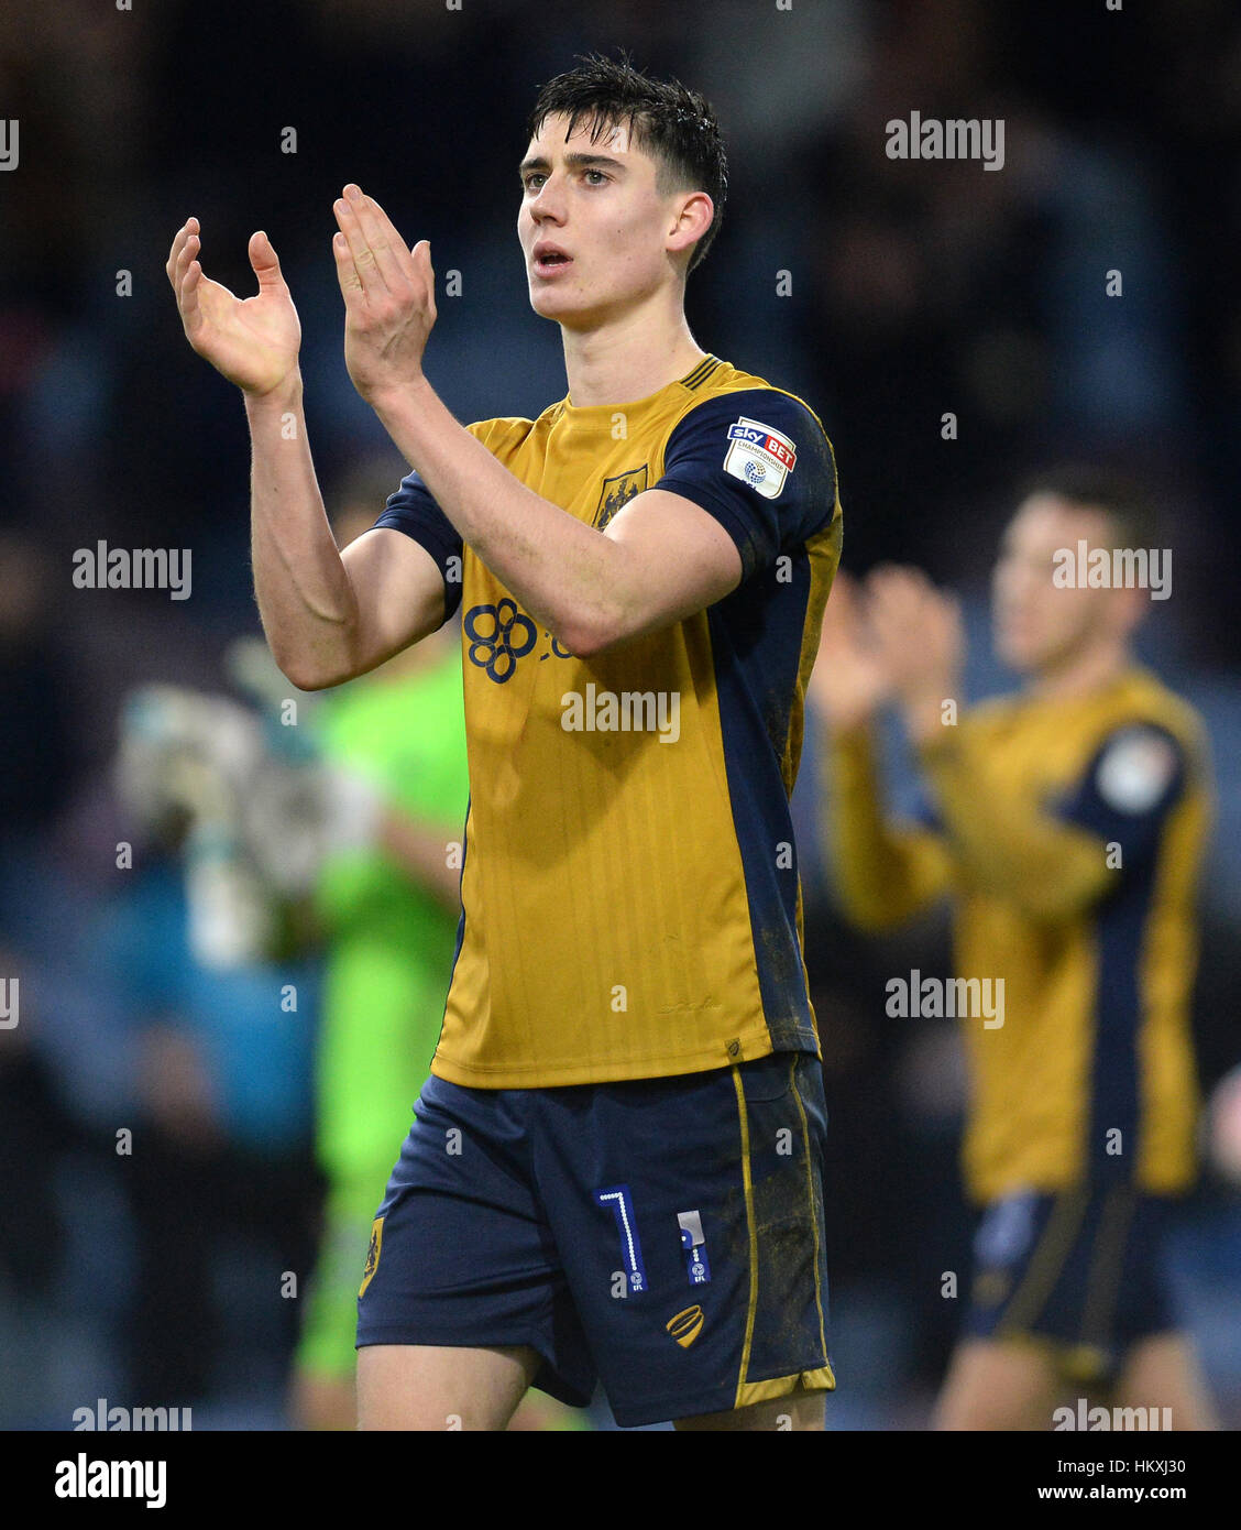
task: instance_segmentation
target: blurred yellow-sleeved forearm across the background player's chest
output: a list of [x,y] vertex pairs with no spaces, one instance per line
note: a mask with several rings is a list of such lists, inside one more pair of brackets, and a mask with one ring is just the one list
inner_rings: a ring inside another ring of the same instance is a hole
[[1102,840],[1006,788],[966,730],[941,727],[919,756],[970,884],[1035,918],[1062,918],[1103,894],[1113,874]]

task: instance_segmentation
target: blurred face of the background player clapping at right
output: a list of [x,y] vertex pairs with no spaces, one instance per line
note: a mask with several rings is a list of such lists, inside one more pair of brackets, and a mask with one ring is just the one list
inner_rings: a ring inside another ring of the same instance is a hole
[[1022,675],[1058,669],[1110,638],[1123,591],[1062,588],[1056,554],[1079,540],[1111,546],[1108,517],[1051,494],[1024,500],[1004,532],[992,578],[992,620],[1000,658]]

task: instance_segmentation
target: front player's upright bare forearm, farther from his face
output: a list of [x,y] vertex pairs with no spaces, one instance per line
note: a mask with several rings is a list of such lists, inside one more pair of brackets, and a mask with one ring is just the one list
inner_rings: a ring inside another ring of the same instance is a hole
[[267,644],[303,690],[355,673],[358,600],[310,459],[301,379],[255,398],[251,427],[251,554]]

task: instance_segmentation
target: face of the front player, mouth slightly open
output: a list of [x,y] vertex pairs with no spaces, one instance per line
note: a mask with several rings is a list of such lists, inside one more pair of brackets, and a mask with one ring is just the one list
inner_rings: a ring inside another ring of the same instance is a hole
[[676,196],[656,191],[657,165],[627,124],[590,142],[549,116],[521,167],[517,231],[530,304],[543,318],[590,329],[631,309],[672,275],[666,237]]

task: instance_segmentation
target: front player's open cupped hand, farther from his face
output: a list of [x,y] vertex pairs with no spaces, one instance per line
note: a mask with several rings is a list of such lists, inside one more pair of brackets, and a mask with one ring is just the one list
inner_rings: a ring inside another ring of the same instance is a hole
[[186,219],[168,252],[168,280],[177,295],[185,338],[222,376],[246,393],[263,395],[296,373],[301,324],[280,260],[266,234],[251,234],[249,257],[258,277],[255,297],[237,298],[203,275],[197,259],[199,220]]

